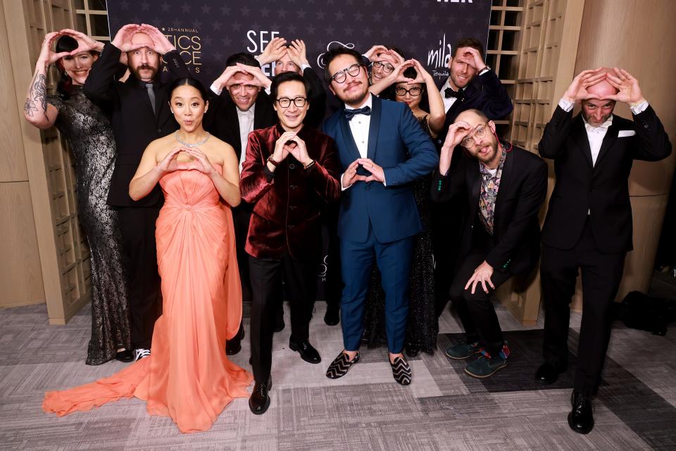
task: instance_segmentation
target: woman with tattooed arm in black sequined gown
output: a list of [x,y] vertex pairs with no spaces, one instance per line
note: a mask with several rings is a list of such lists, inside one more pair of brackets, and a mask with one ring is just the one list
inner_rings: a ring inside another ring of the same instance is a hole
[[[51,44],[56,42],[56,52]],[[117,214],[106,204],[115,161],[115,140],[108,118],[82,94],[97,51],[103,44],[73,30],[45,36],[24,106],[37,128],[56,125],[75,157],[78,218],[90,249],[92,338],[88,365],[100,365],[130,350],[127,282]],[[71,54],[72,53],[72,54]],[[46,94],[47,68],[62,75],[58,92]]]

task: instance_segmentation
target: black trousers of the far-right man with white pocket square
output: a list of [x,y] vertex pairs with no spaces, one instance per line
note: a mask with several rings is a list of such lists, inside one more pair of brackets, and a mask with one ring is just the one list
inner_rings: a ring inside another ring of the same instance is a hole
[[575,390],[591,396],[601,382],[611,336],[611,306],[618,293],[625,252],[604,254],[594,240],[589,221],[580,241],[570,250],[542,246],[542,295],[544,299],[544,359],[568,366],[568,321],[575,294],[578,268],[582,270],[582,324],[577,345]]

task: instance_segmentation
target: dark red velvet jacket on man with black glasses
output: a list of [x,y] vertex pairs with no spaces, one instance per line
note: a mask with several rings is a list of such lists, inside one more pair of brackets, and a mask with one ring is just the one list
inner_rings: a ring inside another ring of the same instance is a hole
[[277,124],[249,134],[239,181],[242,199],[253,204],[244,249],[253,257],[279,258],[288,252],[294,259],[311,261],[320,252],[320,211],[340,197],[340,163],[330,137],[303,127],[298,136],[315,164],[303,169],[289,154],[270,172],[266,160],[283,132]]

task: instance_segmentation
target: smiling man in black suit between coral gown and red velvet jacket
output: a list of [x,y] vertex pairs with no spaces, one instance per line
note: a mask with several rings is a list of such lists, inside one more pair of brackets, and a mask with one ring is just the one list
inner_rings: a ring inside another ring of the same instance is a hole
[[[210,114],[205,120],[205,129],[234,148],[239,159],[240,173],[246,156],[249,133],[277,123],[273,102],[265,92],[269,87],[270,80],[263,74],[260,64],[253,55],[247,53],[230,55],[225,61],[223,74],[211,85],[211,91],[215,95],[210,100]],[[242,302],[251,302],[249,256],[244,251],[251,209],[251,204],[244,201],[232,209],[239,280],[242,283]],[[284,320],[280,311],[277,314],[275,331],[282,328]],[[225,352],[228,355],[237,354],[242,349],[242,338],[244,327],[240,326],[239,333],[227,340]]]

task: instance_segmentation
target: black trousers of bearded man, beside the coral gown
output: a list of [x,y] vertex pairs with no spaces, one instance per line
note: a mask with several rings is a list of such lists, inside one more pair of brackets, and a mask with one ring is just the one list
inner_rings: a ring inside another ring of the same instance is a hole
[[155,321],[162,311],[157,272],[155,223],[159,206],[125,206],[118,209],[129,283],[129,317],[132,347],[150,349]]

